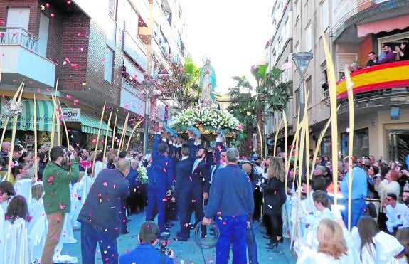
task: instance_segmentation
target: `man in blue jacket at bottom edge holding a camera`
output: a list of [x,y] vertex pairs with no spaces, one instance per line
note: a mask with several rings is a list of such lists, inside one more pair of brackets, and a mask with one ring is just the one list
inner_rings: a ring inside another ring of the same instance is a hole
[[138,240],[140,245],[131,252],[121,255],[121,264],[145,264],[145,263],[174,263],[174,252],[169,249],[170,255],[161,253],[154,246],[158,243],[160,236],[159,226],[153,221],[146,221],[139,231]]

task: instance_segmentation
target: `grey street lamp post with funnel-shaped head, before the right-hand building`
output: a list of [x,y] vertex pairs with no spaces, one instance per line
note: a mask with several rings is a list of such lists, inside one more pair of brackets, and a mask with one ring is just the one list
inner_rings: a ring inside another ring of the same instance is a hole
[[[299,121],[301,122],[304,118],[304,107],[305,107],[305,72],[307,71],[309,62],[312,59],[313,54],[311,52],[296,52],[292,53],[292,60],[294,61],[295,66],[299,72]],[[299,131],[301,133],[301,130]],[[305,148],[305,146],[304,146]],[[304,155],[307,157],[307,149],[304,149]],[[306,173],[306,159],[303,162],[303,171],[302,175],[304,176]]]

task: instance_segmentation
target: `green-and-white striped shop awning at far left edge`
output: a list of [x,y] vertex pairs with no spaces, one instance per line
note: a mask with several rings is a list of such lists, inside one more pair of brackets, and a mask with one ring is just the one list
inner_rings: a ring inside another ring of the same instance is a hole
[[[11,100],[11,97],[1,97],[0,98],[0,114],[4,113],[3,107],[6,102]],[[25,100],[25,99],[23,99]],[[26,99],[23,102],[22,114],[17,120],[17,130],[34,130],[34,100]],[[37,111],[37,130],[38,131],[51,131],[51,125],[53,122],[53,102],[47,100],[36,100],[36,111]],[[0,120],[0,127],[3,128],[6,122],[6,118]],[[13,120],[9,120],[6,130],[13,129]]]

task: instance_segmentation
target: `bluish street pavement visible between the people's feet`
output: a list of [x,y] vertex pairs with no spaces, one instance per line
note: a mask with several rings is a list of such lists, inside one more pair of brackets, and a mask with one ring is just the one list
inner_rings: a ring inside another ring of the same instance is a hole
[[[129,233],[126,235],[121,235],[117,239],[118,243],[118,252],[119,255],[129,252],[137,247],[139,233],[139,228],[145,221],[145,213],[134,214],[129,216],[132,221],[128,223]],[[193,219],[192,219],[193,221]],[[257,223],[256,223],[257,224]],[[278,250],[267,250],[266,243],[269,241],[262,237],[264,234],[264,228],[257,227],[255,228],[255,239],[257,241],[258,247],[258,261],[260,264],[264,263],[296,263],[293,253],[290,251],[290,245],[288,240],[285,240],[284,243],[278,245]],[[171,238],[168,244],[168,248],[174,250],[174,263],[179,264],[197,264],[203,263],[203,257],[201,250],[196,245],[193,239],[193,231],[191,231],[191,238],[187,242],[178,242],[174,241],[173,238],[176,236],[176,232],[179,231],[179,221],[174,221],[174,226],[171,227]],[[210,231],[208,231],[210,233]],[[77,243],[65,244],[63,246],[62,255],[70,255],[78,258],[78,263],[83,263],[81,260],[81,242],[80,242],[80,231],[74,231],[74,237],[77,239]],[[206,238],[208,239],[208,238]],[[206,263],[216,263],[215,248],[204,248],[203,255],[206,260]],[[231,253],[230,253],[231,257]],[[102,259],[100,255],[100,248],[97,246],[97,257],[95,263],[102,264]],[[230,258],[231,263],[231,258]],[[87,263],[83,263],[87,264]]]

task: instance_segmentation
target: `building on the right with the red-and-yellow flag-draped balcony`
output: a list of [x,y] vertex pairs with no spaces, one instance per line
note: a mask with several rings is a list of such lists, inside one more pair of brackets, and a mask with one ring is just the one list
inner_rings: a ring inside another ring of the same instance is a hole
[[[346,156],[349,134],[349,110],[342,76],[345,65],[358,63],[363,69],[351,74],[355,84],[354,154],[357,157],[374,155],[376,159],[402,162],[409,152],[408,63],[398,61],[371,68],[366,68],[366,63],[369,52],[382,56],[383,45],[390,45],[395,51],[395,46],[408,42],[408,1],[293,0],[277,1],[276,5],[290,6],[292,9],[292,52],[314,53],[305,75],[305,88],[310,91],[307,100],[309,152],[312,153],[317,147],[317,138],[330,116],[324,34],[329,41],[336,78],[339,79],[339,153]],[[279,23],[286,12],[280,11],[278,14],[280,19],[277,19],[277,26],[273,25],[273,36],[287,34],[283,29],[285,27]],[[275,21],[275,17],[272,19]],[[283,64],[281,58],[286,56],[275,56],[275,51],[278,51],[276,46],[270,46],[267,58],[270,65],[280,68]],[[286,55],[285,50],[276,54]],[[291,63],[290,58],[287,58],[287,62]],[[292,113],[288,121],[291,126],[291,122],[292,125],[297,122],[299,73],[293,66],[287,70],[287,75],[292,77],[287,80],[293,83],[290,93],[292,100],[288,104]],[[322,155],[331,154],[331,147],[334,146],[330,131],[326,132],[319,147]]]

